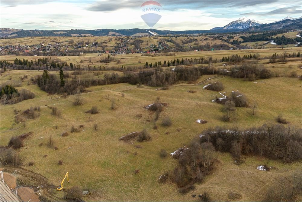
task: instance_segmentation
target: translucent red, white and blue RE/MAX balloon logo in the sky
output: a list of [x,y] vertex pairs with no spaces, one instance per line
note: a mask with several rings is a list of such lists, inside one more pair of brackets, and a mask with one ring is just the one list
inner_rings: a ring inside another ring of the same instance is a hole
[[153,27],[159,19],[162,17],[160,12],[162,11],[162,6],[159,2],[156,1],[146,1],[144,2],[140,8],[142,9],[143,15],[140,17],[149,27]]

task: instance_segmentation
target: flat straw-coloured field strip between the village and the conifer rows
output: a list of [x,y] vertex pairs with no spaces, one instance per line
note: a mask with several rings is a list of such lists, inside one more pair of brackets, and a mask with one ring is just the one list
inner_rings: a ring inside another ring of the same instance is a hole
[[[117,55],[114,56],[118,61],[112,61],[109,63],[102,63],[99,62],[100,59],[107,57],[106,54],[103,54],[102,56],[98,56],[97,53],[92,54],[83,54],[82,56],[52,56],[52,59],[58,59],[59,61],[65,61],[68,64],[72,62],[75,65],[79,65],[81,68],[88,67],[121,67],[122,65],[124,67],[127,66],[136,66],[136,67],[143,67],[146,62],[155,63],[157,61],[161,61],[163,64],[163,61],[166,60],[174,60],[174,58],[205,58],[208,59],[210,57],[213,58],[213,60],[222,59],[223,57],[228,57],[233,54],[238,54],[243,57],[243,55],[249,55],[249,54],[255,54],[259,53],[260,57],[271,57],[273,53],[282,55],[284,51],[289,54],[293,52],[302,52],[302,48],[300,47],[292,47],[292,48],[267,48],[267,49],[246,49],[246,50],[224,50],[224,51],[190,51],[190,52],[175,52],[174,55],[169,56],[142,56],[142,54],[123,54],[123,55]],[[28,59],[35,61],[38,58],[43,58],[43,56],[16,56],[16,55],[3,55],[1,56],[0,60],[7,60],[9,62],[14,62],[14,60],[18,59]],[[81,62],[82,60],[82,62]],[[91,61],[91,62],[89,62]],[[261,62],[267,62],[267,60],[261,61]],[[299,62],[297,63],[299,64]],[[216,64],[214,65],[222,65],[222,64]]]

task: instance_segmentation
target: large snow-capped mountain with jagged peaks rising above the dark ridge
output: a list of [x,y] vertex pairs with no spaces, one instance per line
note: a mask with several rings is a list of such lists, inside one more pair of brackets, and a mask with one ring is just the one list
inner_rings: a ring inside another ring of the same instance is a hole
[[251,20],[247,17],[241,17],[238,20],[235,20],[229,24],[227,24],[224,27],[215,27],[213,29],[246,29],[249,27],[255,27],[262,25],[263,23],[256,21],[256,20]]

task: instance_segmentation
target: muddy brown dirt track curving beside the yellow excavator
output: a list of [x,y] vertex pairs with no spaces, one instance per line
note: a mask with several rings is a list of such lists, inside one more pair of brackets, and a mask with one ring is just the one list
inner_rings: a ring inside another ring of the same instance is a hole
[[[41,201],[64,201],[63,198],[56,196],[56,186],[48,183],[48,179],[40,174],[27,171],[21,167],[2,166],[3,171],[15,173],[23,177],[29,178],[37,186],[34,191],[38,191]],[[39,188],[37,188],[39,186]],[[43,186],[43,187],[42,187]]]

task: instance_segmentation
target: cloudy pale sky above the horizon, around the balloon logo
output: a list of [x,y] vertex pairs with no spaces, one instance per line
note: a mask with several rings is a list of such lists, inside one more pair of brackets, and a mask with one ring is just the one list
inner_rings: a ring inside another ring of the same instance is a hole
[[[0,28],[150,28],[140,0],[0,0]],[[159,30],[207,30],[242,16],[271,23],[302,15],[302,0],[158,0]]]

